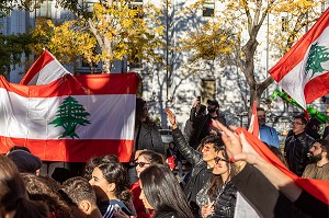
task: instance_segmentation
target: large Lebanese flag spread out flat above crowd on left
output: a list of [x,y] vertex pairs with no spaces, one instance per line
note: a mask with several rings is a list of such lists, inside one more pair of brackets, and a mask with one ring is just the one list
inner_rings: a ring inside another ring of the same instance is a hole
[[25,146],[44,161],[84,162],[134,146],[136,73],[66,74],[45,85],[0,77],[0,152]]

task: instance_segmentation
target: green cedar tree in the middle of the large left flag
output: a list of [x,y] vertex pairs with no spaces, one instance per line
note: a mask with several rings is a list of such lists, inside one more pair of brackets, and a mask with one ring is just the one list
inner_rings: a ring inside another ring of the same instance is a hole
[[87,119],[87,116],[90,114],[84,110],[83,105],[79,104],[79,102],[72,97],[66,97],[63,103],[60,104],[56,118],[49,123],[50,125],[61,126],[65,131],[59,138],[64,138],[66,136],[80,138],[76,134],[77,125],[86,126],[90,124],[90,121]]

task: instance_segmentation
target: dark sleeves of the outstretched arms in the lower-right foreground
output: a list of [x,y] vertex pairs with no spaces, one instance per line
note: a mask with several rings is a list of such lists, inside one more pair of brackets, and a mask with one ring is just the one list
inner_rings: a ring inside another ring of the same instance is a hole
[[292,203],[252,165],[247,164],[239,174],[232,177],[231,182],[260,217],[327,218],[329,216],[329,206],[305,191],[295,203]]

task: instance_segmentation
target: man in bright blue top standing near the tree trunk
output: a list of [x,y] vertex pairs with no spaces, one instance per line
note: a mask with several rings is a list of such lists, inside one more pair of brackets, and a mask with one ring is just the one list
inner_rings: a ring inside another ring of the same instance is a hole
[[262,107],[257,107],[257,117],[259,124],[260,139],[266,142],[269,146],[275,146],[276,148],[280,148],[276,129],[265,124],[266,123],[265,110]]

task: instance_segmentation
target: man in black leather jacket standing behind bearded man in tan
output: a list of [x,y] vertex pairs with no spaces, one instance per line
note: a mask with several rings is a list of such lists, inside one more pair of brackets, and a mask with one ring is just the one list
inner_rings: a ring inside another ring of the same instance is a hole
[[295,116],[293,122],[293,135],[285,140],[284,154],[288,168],[296,175],[302,176],[309,158],[307,153],[316,142],[305,133],[307,121],[304,116]]

